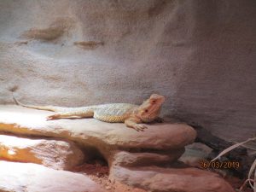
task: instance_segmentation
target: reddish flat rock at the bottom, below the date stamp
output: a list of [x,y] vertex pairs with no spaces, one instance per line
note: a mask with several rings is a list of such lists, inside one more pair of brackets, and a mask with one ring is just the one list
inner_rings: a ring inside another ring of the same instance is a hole
[[235,192],[230,184],[217,174],[196,168],[113,166],[110,177],[153,192]]

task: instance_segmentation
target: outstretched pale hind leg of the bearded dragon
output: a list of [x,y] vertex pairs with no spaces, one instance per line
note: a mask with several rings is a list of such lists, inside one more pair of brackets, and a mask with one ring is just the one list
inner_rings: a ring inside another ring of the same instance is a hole
[[74,109],[72,111],[67,111],[67,112],[60,112],[60,113],[55,113],[53,115],[49,115],[47,117],[47,120],[52,120],[52,119],[62,119],[62,118],[73,118],[73,117],[79,117],[79,118],[89,118],[93,117],[93,110],[87,109],[83,110],[81,108],[78,108],[77,110]]

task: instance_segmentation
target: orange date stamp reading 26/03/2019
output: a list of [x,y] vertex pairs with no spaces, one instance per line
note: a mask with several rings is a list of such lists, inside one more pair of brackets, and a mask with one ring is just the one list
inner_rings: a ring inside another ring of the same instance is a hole
[[201,169],[238,169],[240,167],[239,161],[219,161],[219,160],[201,160],[200,168]]

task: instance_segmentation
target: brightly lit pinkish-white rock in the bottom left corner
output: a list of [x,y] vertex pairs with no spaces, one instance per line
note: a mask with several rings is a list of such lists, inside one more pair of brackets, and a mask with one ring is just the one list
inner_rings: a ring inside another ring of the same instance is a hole
[[0,191],[4,192],[103,192],[89,177],[57,171],[32,163],[0,160]]

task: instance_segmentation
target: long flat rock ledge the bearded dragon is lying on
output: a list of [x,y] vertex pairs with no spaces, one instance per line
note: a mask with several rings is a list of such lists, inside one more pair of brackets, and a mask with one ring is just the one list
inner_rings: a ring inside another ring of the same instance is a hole
[[[124,124],[110,124],[96,119],[57,119],[46,121],[48,111],[0,106],[0,131],[22,135],[59,137],[97,148],[105,157],[122,149],[132,153],[161,153],[183,149],[193,143],[196,132],[184,124],[152,124],[137,132]],[[178,155],[177,155],[178,158]]]

